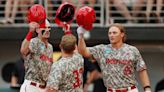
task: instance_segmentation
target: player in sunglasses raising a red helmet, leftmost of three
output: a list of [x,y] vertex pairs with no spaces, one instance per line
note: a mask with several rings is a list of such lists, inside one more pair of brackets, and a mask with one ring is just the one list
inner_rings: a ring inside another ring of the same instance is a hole
[[[53,61],[53,47],[48,42],[51,25],[41,5],[33,6],[30,12],[33,14],[28,18],[33,21],[29,23],[29,32],[20,49],[25,64],[25,80],[20,92],[44,92]],[[34,32],[37,37],[32,38]]]

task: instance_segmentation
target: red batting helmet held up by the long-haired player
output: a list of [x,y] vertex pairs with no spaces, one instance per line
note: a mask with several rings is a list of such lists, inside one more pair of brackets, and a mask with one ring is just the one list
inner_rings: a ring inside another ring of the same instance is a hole
[[92,24],[96,20],[96,14],[93,8],[84,6],[77,11],[76,22],[86,30],[92,29]]

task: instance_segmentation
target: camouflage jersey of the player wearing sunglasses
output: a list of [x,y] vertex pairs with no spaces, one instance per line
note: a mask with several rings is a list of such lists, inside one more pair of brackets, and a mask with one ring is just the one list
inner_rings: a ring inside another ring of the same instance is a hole
[[53,48],[38,37],[30,40],[30,52],[25,56],[25,79],[45,84],[52,65]]

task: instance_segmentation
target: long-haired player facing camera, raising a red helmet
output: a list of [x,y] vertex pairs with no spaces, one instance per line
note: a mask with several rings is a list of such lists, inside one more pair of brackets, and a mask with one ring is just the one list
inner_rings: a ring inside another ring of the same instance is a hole
[[[82,11],[79,10],[79,12]],[[84,14],[81,13],[87,18],[88,14],[92,13],[87,13],[87,11]],[[81,24],[84,20],[81,20]],[[89,48],[86,47],[83,37],[86,28],[92,28],[92,25],[80,25],[77,29],[78,50],[84,57],[96,59],[101,68],[107,92],[139,92],[136,87],[135,70],[139,73],[144,91],[151,92],[145,62],[136,47],[124,43],[125,30],[121,24],[113,24],[109,28],[108,37],[111,44],[101,44]]]

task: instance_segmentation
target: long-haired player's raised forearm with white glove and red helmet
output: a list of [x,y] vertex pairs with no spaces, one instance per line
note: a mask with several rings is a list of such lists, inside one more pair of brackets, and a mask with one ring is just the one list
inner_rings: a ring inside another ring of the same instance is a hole
[[84,6],[80,8],[77,12],[76,22],[79,25],[77,29],[79,41],[78,41],[78,50],[80,54],[84,57],[91,57],[92,55],[89,53],[89,50],[86,47],[86,43],[84,41],[84,32],[92,29],[92,25],[96,20],[96,14],[94,9],[88,6]]

